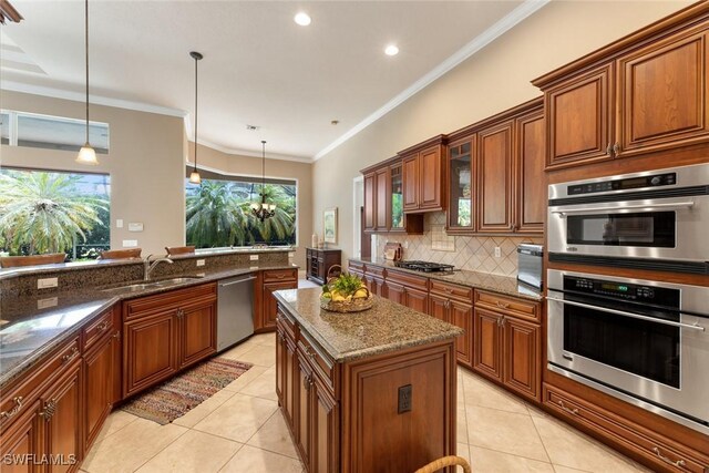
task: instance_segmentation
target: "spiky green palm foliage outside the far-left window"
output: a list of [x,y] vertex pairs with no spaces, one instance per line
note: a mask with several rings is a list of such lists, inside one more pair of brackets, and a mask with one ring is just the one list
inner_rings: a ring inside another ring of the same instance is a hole
[[12,255],[71,249],[104,225],[109,200],[81,195],[81,176],[51,172],[3,171],[0,174],[0,244]]

